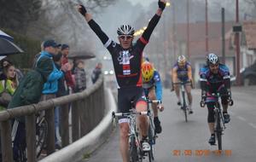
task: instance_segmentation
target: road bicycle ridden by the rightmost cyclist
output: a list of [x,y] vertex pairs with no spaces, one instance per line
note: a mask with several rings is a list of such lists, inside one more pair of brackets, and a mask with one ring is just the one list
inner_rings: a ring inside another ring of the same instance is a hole
[[[226,129],[226,126],[224,124],[224,117],[222,113],[222,107],[220,106],[220,103],[218,101],[219,97],[225,96],[228,97],[228,103],[230,106],[233,106],[234,101],[231,99],[231,95],[220,95],[219,93],[212,93],[211,95],[207,95],[206,97],[213,97],[215,98],[215,104],[214,104],[214,132],[215,136],[217,136],[218,140],[218,150],[222,150],[222,135],[224,135],[224,129]],[[205,107],[206,105],[206,99],[202,99],[200,103],[201,107]]]

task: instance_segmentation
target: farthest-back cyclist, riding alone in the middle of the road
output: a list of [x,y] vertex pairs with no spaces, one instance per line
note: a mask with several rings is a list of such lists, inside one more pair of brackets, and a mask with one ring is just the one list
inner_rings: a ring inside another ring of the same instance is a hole
[[181,106],[181,98],[180,98],[180,85],[176,84],[178,82],[187,82],[190,81],[190,83],[185,85],[185,90],[188,95],[189,100],[189,113],[193,113],[192,110],[192,67],[189,63],[189,61],[186,60],[186,57],[184,55],[180,55],[177,58],[177,62],[172,67],[172,86],[175,90],[175,93],[177,95],[177,105]]

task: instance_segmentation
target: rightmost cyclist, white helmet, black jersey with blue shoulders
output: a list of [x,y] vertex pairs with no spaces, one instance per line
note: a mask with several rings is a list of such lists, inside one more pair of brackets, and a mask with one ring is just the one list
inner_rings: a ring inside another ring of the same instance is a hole
[[207,97],[212,93],[220,93],[224,95],[221,97],[223,107],[224,123],[230,122],[230,115],[228,114],[228,97],[231,97],[230,92],[230,71],[229,68],[218,61],[218,56],[215,54],[207,55],[207,66],[202,67],[200,72],[201,81],[201,97],[202,101],[207,103],[208,108],[208,126],[211,132],[209,143],[215,144],[214,133],[214,97]]

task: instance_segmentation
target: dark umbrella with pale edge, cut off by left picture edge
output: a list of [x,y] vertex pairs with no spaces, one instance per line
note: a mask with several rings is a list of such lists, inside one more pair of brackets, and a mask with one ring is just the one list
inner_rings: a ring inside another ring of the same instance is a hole
[[15,43],[5,38],[0,38],[0,55],[19,54],[23,52],[24,51],[15,45]]

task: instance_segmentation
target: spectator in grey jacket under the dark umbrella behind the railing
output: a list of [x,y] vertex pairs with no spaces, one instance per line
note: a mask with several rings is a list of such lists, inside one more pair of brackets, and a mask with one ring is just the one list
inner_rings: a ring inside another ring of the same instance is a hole
[[81,92],[86,89],[86,72],[84,71],[84,61],[79,60],[74,69],[75,92]]

